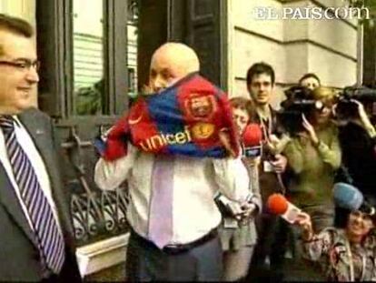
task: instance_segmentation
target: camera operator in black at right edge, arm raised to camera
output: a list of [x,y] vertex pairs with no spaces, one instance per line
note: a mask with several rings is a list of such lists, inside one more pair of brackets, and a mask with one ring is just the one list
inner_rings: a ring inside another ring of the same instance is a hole
[[358,187],[373,206],[376,205],[376,131],[370,117],[374,101],[376,90],[345,88],[335,107],[340,126],[342,168],[348,174],[340,176],[339,181]]

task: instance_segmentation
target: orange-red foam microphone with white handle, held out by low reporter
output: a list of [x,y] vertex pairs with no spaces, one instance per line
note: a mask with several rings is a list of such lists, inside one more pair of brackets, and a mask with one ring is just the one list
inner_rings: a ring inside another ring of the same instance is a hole
[[287,222],[293,224],[302,210],[292,205],[282,194],[272,194],[266,202],[268,210],[275,215],[281,216]]

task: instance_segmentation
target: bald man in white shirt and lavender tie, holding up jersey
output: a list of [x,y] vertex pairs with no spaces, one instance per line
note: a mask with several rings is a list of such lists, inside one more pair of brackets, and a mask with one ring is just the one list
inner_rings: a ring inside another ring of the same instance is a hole
[[[168,43],[153,54],[149,84],[155,93],[199,69],[198,57],[190,47]],[[157,169],[161,162],[164,170]],[[101,158],[94,173],[98,187],[114,189],[124,180],[129,185],[127,278],[220,280],[222,248],[217,227],[221,214],[213,197],[220,190],[241,201],[249,194],[247,176],[240,159],[166,157],[147,154],[131,144],[126,157],[111,162]],[[159,200],[163,206],[155,209],[157,197],[167,188],[172,197]],[[167,207],[172,207],[170,215],[163,213]]]

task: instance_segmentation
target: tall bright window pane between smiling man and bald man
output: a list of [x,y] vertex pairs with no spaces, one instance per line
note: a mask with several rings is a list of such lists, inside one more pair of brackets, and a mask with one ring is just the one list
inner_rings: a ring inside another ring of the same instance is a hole
[[103,1],[74,0],[73,4],[74,112],[104,114]]

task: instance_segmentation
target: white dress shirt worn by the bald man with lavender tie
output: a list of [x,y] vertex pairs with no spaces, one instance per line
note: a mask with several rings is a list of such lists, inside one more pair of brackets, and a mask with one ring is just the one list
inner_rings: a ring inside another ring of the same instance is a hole
[[[95,166],[94,181],[112,190],[128,180],[127,218],[134,230],[148,238],[153,154],[128,144],[128,155],[112,162],[103,158]],[[173,238],[170,245],[202,238],[221,222],[213,197],[218,189],[233,200],[249,197],[249,177],[240,158],[176,157],[173,163]]]

